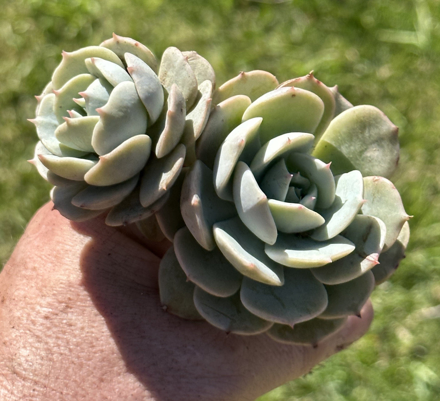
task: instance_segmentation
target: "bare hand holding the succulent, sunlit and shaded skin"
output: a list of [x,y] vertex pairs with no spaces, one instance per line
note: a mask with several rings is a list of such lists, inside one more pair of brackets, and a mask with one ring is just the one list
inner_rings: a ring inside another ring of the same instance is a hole
[[157,255],[169,244],[102,218],[73,223],[52,206],[0,274],[1,400],[254,400],[357,340],[373,317],[367,303],[316,348],[226,335],[161,308]]

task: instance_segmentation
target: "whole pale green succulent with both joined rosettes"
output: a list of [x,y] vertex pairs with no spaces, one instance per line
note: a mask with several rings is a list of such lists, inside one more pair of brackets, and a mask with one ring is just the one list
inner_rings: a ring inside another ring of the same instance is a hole
[[182,318],[316,344],[359,315],[409,239],[397,127],[312,73],[213,92],[209,63],[176,48],[155,71],[119,36],[63,54],[33,120],[55,207],[172,241],[160,297]]

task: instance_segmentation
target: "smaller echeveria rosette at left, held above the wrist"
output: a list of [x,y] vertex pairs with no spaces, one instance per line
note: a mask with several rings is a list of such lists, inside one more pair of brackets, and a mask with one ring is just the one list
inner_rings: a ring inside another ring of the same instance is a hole
[[76,221],[108,211],[115,226],[150,217],[194,158],[214,85],[208,61],[176,47],[160,65],[115,34],[63,52],[31,120],[40,138],[32,162],[55,185],[55,209]]

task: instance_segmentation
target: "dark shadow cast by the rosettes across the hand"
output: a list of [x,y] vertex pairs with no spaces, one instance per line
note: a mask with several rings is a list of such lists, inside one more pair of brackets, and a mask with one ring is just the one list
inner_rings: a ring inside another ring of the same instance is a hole
[[206,322],[166,313],[159,300],[157,256],[97,219],[71,225],[91,237],[81,253],[82,284],[126,369],[155,400],[208,399],[209,394],[228,399],[230,389],[243,387],[243,365],[257,370],[255,356],[272,340],[227,336]]

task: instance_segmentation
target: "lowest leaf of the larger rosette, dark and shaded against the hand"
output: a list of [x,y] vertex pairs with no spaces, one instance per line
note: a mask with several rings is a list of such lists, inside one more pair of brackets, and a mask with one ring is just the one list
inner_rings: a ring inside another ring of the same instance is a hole
[[269,329],[268,336],[280,343],[317,346],[330,334],[336,332],[345,323],[346,318],[324,320],[314,318],[292,327],[275,323]]

